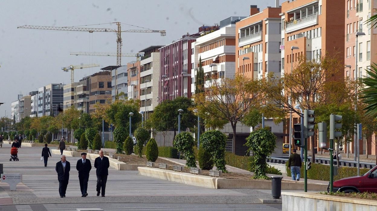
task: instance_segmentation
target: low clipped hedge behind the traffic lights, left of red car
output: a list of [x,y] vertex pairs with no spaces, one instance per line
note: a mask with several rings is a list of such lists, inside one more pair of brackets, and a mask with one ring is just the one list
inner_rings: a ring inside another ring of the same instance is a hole
[[[285,163],[285,166],[287,168],[287,176],[290,177],[291,169],[288,169],[288,163]],[[300,168],[301,178],[304,178],[304,169],[305,166],[304,163],[302,163]],[[360,175],[363,175],[368,171],[369,169],[360,168]],[[357,176],[357,168],[342,166],[338,168],[338,174],[334,176],[334,181],[353,176]],[[312,163],[311,169],[308,170],[308,179],[330,181],[330,166],[320,163]]]

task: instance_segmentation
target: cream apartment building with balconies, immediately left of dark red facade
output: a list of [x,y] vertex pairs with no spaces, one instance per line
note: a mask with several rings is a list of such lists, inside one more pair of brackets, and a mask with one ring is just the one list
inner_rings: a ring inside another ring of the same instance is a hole
[[[140,111],[144,111],[145,119],[158,105],[158,87],[160,78],[160,52],[162,45],[153,45],[141,49],[144,53],[140,60]],[[131,87],[132,88],[132,87]]]

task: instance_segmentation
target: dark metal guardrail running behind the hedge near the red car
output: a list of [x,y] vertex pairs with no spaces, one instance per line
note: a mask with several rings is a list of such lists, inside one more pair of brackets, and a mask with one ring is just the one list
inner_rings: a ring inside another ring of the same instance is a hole
[[[311,157],[308,157],[308,161],[311,161]],[[288,159],[286,158],[279,158],[279,157],[268,157],[267,163],[280,163],[285,164],[288,162]],[[330,164],[329,158],[316,158],[316,163],[322,163],[325,165]],[[352,160],[339,160],[340,166],[348,166],[348,167],[357,167],[357,161]],[[373,168],[376,164],[375,163],[368,163],[368,162],[359,162],[360,168]],[[334,159],[334,165],[337,165],[337,160]]]

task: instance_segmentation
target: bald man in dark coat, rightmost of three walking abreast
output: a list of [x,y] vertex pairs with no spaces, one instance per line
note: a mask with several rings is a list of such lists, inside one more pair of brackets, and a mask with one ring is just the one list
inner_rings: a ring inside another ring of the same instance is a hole
[[[94,160],[94,168],[96,168],[97,175],[97,196],[105,197],[105,188],[107,182],[107,175],[109,175],[109,158],[104,156],[103,150],[98,152],[100,157]],[[102,189],[102,190],[101,190]]]

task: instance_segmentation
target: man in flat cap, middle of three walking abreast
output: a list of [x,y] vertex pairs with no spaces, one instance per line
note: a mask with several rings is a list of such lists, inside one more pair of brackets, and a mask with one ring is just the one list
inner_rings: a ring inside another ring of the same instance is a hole
[[92,164],[90,160],[86,159],[86,153],[81,153],[81,159],[77,161],[76,169],[78,171],[78,180],[80,181],[80,190],[81,190],[81,197],[86,197],[88,193],[86,193],[88,188],[88,180],[89,180],[89,172],[92,169]]

